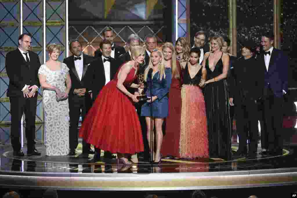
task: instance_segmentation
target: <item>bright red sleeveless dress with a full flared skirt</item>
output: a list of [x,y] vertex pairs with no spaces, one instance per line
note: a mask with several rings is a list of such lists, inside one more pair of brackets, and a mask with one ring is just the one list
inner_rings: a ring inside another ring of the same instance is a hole
[[[118,72],[101,89],[82,123],[79,137],[111,153],[139,153],[144,150],[140,122],[133,101],[116,87]],[[124,86],[129,87],[136,77],[132,68]]]

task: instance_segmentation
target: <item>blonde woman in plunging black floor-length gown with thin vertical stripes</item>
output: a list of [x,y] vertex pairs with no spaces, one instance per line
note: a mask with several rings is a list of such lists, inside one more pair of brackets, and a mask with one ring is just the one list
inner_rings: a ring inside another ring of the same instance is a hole
[[208,125],[209,157],[231,159],[231,120],[228,104],[227,73],[229,56],[221,51],[224,39],[211,39],[211,51],[204,55],[206,67],[204,98]]

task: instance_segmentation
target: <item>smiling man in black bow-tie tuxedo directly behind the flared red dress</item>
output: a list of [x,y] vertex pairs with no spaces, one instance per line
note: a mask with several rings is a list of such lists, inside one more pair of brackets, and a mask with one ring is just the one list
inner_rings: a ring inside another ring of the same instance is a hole
[[[100,43],[99,49],[102,55],[97,57],[97,59],[95,59],[90,65],[93,71],[93,76],[91,77],[91,98],[93,101],[96,100],[101,89],[115,77],[115,74],[119,69],[119,65],[116,60],[110,57],[112,51],[111,42],[109,40],[103,40]],[[94,155],[94,161],[98,161],[100,159],[101,150],[100,148],[95,148],[95,151],[96,154]],[[105,151],[104,157],[113,158],[113,155],[110,152]]]

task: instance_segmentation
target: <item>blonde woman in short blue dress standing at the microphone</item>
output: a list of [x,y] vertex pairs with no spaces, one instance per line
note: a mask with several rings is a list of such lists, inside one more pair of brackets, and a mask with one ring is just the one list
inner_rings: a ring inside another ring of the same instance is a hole
[[[149,100],[142,106],[141,116],[146,117],[148,142],[151,142],[151,119],[154,119],[152,128],[156,128],[156,152],[153,153],[153,160],[155,164],[159,164],[162,158],[160,154],[163,141],[162,123],[168,116],[168,92],[171,85],[171,68],[165,67],[162,51],[155,49],[151,52],[144,80],[147,83],[146,95]],[[154,140],[154,133],[152,138]],[[150,143],[149,146],[151,147]],[[154,145],[152,146],[154,148]]]

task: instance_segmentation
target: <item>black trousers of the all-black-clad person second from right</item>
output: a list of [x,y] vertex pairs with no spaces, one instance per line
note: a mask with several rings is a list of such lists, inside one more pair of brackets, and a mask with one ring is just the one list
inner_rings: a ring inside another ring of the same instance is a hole
[[[240,152],[247,153],[247,139],[249,139],[249,154],[257,153],[258,145],[258,109],[254,100],[246,100],[235,106],[236,128],[238,132]],[[247,127],[248,126],[248,127]]]

